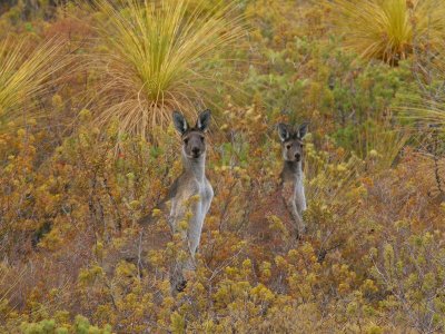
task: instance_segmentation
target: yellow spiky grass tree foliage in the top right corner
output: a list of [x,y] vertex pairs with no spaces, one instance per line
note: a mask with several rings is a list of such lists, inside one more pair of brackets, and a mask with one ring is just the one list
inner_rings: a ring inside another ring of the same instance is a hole
[[333,8],[346,47],[366,59],[397,65],[414,47],[422,50],[445,38],[441,0],[335,0]]

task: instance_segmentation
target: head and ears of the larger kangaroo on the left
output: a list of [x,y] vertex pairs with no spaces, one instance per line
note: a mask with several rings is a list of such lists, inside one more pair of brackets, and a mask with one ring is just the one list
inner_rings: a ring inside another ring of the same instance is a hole
[[190,127],[182,114],[174,111],[174,124],[181,135],[182,151],[189,159],[198,159],[206,153],[205,134],[210,124],[210,110],[199,114],[195,127]]

